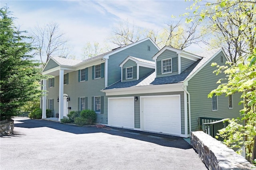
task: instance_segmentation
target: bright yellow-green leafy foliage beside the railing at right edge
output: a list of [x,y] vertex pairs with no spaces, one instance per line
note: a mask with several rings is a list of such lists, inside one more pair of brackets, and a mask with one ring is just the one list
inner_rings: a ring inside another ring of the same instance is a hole
[[[208,97],[216,95],[231,95],[241,93],[241,104],[244,109],[240,111],[242,119],[229,120],[228,127],[221,129],[219,135],[224,138],[224,143],[231,148],[246,148],[248,158],[256,159],[256,64],[252,59],[256,57],[256,48],[254,53],[248,57],[246,64],[230,64],[228,66],[217,66],[216,74],[224,72],[226,79],[221,79],[218,88],[212,90]],[[241,120],[245,125],[241,125]]]

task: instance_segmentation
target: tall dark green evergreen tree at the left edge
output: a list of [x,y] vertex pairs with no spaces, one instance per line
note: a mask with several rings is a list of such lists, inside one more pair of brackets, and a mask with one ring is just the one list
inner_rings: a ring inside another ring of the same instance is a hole
[[0,119],[15,116],[20,107],[40,96],[39,63],[32,60],[33,47],[26,31],[18,30],[8,7],[0,9]]

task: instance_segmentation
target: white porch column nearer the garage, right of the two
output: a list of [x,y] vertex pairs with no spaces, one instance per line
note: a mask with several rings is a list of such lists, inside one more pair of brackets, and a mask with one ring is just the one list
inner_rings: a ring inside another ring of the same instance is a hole
[[64,70],[60,69],[60,88],[59,88],[59,121],[63,118],[63,94],[64,94]]

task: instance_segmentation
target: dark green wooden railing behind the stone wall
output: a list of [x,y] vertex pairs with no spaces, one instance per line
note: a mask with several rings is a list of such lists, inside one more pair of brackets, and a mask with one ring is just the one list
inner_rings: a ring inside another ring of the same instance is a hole
[[[210,118],[210,117],[200,117],[200,126],[202,130],[208,135],[215,138],[218,130],[223,129],[228,126],[228,119]],[[222,137],[218,137],[219,141],[223,141]]]

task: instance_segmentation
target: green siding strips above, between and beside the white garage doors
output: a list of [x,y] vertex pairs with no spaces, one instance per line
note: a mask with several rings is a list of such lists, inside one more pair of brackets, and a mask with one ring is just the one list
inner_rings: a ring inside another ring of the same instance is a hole
[[140,96],[160,96],[180,94],[180,109],[181,109],[181,133],[185,134],[185,118],[184,118],[184,92],[164,92],[164,93],[147,93],[147,94],[130,94],[107,96],[108,98],[138,96],[138,100],[134,101],[134,127],[140,128]]

